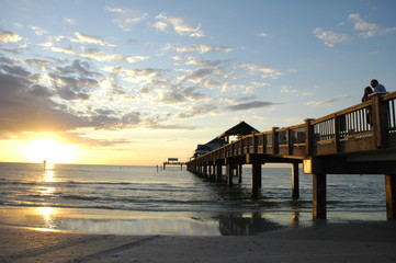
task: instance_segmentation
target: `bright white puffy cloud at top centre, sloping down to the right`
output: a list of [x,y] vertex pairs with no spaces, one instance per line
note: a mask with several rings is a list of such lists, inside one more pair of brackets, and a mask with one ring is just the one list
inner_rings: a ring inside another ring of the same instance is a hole
[[205,33],[197,27],[190,26],[183,19],[168,16],[166,13],[160,13],[156,16],[157,22],[152,24],[152,27],[157,31],[166,32],[168,27],[179,35],[190,36],[190,37],[204,37]]

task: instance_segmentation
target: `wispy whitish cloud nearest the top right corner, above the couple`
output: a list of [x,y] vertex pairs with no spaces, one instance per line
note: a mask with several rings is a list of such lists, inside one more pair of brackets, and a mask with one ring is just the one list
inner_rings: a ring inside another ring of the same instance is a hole
[[389,34],[396,31],[396,27],[383,28],[377,24],[365,22],[362,18],[360,18],[359,13],[349,14],[348,20],[354,24],[353,28],[360,32],[359,35],[364,38]]

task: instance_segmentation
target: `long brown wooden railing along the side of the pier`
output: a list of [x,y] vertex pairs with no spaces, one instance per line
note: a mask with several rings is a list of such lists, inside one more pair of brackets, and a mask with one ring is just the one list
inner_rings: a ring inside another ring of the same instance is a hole
[[396,147],[396,92],[304,124],[251,134],[189,163],[260,153],[282,158],[373,151]]

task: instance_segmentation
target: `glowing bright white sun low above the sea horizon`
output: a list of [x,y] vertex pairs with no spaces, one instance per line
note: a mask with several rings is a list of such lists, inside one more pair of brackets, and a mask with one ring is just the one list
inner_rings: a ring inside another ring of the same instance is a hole
[[23,152],[31,162],[70,163],[77,156],[77,147],[53,138],[41,138],[25,145]]

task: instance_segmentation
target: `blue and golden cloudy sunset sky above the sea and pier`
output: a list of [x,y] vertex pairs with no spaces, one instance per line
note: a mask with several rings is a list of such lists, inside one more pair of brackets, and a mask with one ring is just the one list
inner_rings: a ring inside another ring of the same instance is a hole
[[186,161],[396,83],[394,0],[0,0],[0,161]]

